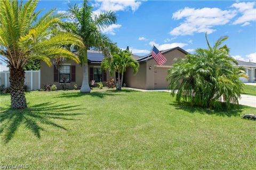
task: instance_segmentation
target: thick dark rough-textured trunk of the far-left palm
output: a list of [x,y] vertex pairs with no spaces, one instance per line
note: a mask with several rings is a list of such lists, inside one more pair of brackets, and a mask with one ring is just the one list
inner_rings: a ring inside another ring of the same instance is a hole
[[11,106],[14,109],[27,107],[24,82],[25,71],[23,69],[15,69],[10,66]]

